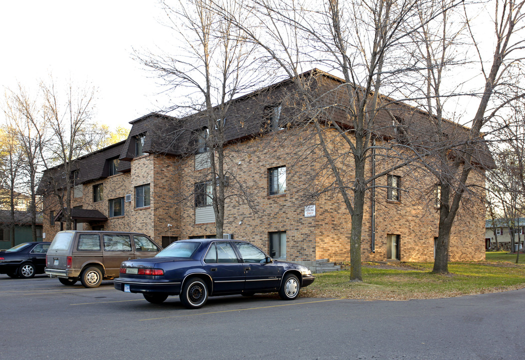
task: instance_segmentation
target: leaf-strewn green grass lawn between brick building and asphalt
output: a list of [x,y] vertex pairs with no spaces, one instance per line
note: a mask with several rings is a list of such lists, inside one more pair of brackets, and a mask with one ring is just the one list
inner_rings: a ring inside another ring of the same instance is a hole
[[432,268],[433,263],[401,263],[397,266],[363,263],[363,282],[350,282],[349,270],[316,274],[316,281],[302,289],[301,296],[409,300],[525,288],[525,266],[506,260],[451,262],[448,265],[450,274],[447,275],[433,274]]

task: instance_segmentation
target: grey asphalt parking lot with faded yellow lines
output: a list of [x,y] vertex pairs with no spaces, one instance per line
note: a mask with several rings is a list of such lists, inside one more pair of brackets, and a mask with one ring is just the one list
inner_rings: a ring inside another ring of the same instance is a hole
[[187,310],[0,275],[0,359],[522,359],[525,290],[364,301],[210,298]]

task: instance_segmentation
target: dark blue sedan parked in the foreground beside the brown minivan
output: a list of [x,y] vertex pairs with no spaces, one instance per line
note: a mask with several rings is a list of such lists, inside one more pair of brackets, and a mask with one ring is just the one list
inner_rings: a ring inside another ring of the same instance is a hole
[[122,262],[114,286],[154,304],[179,295],[186,308],[198,309],[215,295],[278,291],[281,299],[293,300],[314,279],[307,267],[274,260],[247,241],[192,239],[176,241],[154,258]]

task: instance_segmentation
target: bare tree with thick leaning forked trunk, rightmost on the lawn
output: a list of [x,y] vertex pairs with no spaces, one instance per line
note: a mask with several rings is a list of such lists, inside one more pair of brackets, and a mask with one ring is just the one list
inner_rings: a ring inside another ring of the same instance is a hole
[[[442,6],[442,3],[444,2],[436,4]],[[484,89],[476,94],[479,105],[475,113],[470,115],[470,130],[465,139],[451,141],[450,137],[447,137],[450,132],[446,129],[449,122],[443,119],[444,100],[447,97],[465,94],[465,92],[457,91],[445,92],[442,86],[444,71],[457,61],[452,55],[453,51],[457,50],[454,48],[456,45],[454,40],[461,29],[450,33],[447,32],[447,28],[454,20],[458,21],[458,14],[455,14],[455,18],[451,18],[451,14],[443,12],[441,30],[435,33],[432,28],[423,26],[419,33],[421,36],[416,40],[418,44],[424,45],[419,47],[418,54],[421,66],[425,69],[422,71],[425,86],[422,86],[421,98],[426,99],[426,104],[423,106],[430,115],[429,121],[435,127],[434,138],[429,140],[432,144],[437,145],[433,156],[428,157],[432,159],[432,162],[425,162],[427,169],[436,176],[440,188],[439,230],[433,269],[435,273],[448,273],[450,230],[460,208],[461,200],[473,192],[474,188],[469,185],[469,179],[478,170],[482,173],[491,166],[490,159],[483,151],[485,144],[481,129],[512,100],[524,95],[519,84],[511,81],[513,68],[521,63],[520,50],[522,50],[523,38],[518,37],[516,33],[523,26],[524,2],[498,0],[491,4],[495,6],[493,27],[496,42],[491,54],[492,61],[489,69],[485,65],[487,54],[482,51],[474,30],[472,30],[470,8],[464,7],[463,22],[467,34],[472,39],[471,46],[478,56],[476,63],[484,78]],[[427,15],[427,18],[428,16],[430,15]],[[426,18],[422,18],[422,22],[426,22]],[[456,52],[456,54],[460,53]]]

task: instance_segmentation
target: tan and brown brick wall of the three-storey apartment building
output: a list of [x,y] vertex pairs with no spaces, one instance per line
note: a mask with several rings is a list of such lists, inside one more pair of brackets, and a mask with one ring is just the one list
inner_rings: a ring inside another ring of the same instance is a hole
[[[273,145],[259,139],[247,140],[227,149],[227,171],[230,185],[227,190],[224,233],[235,239],[248,240],[269,251],[268,233],[286,231],[287,259],[311,261],[328,258],[348,261],[350,258],[351,218],[341,195],[331,192],[321,195],[315,202],[316,217],[304,217],[303,188],[319,170],[320,160],[315,152],[308,154],[297,146],[305,140],[299,136],[286,137],[287,132],[274,134]],[[269,147],[264,147],[269,146]],[[304,148],[303,148],[304,149]],[[302,160],[293,164],[299,156]],[[351,162],[349,162],[351,164]],[[268,196],[268,168],[287,166],[287,192]],[[349,165],[350,166],[350,165]],[[385,164],[383,164],[385,166]],[[346,174],[353,176],[351,166]],[[370,175],[370,167],[367,168]],[[195,171],[194,156],[146,155],[131,162],[131,172],[114,175],[83,186],[83,196],[74,198],[72,205],[97,209],[108,215],[108,199],[132,194],[132,202],[125,203],[125,216],[112,218],[104,224],[106,230],[144,232],[161,243],[162,236],[184,239],[216,233],[215,223],[195,224],[194,184],[211,179],[208,169]],[[401,236],[402,261],[433,261],[434,237],[437,236],[438,214],[433,205],[433,179],[415,176],[408,170],[397,171],[402,176],[400,202],[386,201],[386,189],[376,190],[375,252],[371,250],[372,203],[370,196],[364,206],[362,228],[362,259],[385,260],[386,236]],[[333,181],[330,172],[317,174],[316,184]],[[481,175],[472,175],[472,181],[482,184]],[[104,184],[104,200],[93,203],[92,186]],[[135,209],[134,187],[150,184],[151,206]],[[253,195],[257,204],[252,211],[239,197],[239,185]],[[377,179],[377,185],[386,186],[386,176]],[[453,228],[450,241],[450,260],[484,259],[484,210],[475,197],[461,211]],[[49,227],[50,198],[44,206],[44,232],[52,239],[59,229]],[[172,226],[168,227],[170,224]],[[87,225],[87,224],[86,224]],[[89,229],[88,226],[85,227]]]

